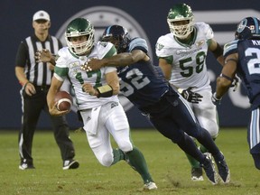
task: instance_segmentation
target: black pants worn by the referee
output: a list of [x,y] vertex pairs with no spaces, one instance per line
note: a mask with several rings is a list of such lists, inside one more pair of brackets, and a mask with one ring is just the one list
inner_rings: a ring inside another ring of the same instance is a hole
[[71,160],[75,156],[74,146],[70,140],[70,128],[67,124],[65,116],[51,116],[47,105],[47,93],[49,88],[36,87],[36,94],[32,97],[26,95],[22,89],[22,128],[19,132],[19,153],[21,162],[32,162],[32,139],[35,128],[42,110],[51,118],[54,138],[60,147],[61,159]]

